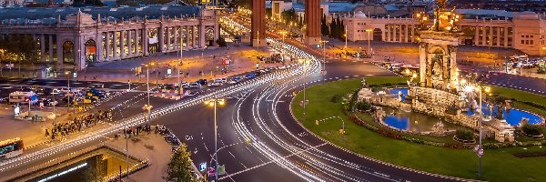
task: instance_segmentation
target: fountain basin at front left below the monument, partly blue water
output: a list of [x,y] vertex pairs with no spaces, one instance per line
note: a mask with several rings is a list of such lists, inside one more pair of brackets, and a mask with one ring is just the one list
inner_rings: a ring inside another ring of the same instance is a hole
[[[384,106],[383,110],[387,114],[384,119],[385,124],[401,130],[414,132],[432,131],[432,126],[440,122],[439,117],[415,112],[405,112],[398,108]],[[442,123],[444,124],[444,129],[447,130],[456,129],[458,127],[455,124],[445,121],[442,121]]]

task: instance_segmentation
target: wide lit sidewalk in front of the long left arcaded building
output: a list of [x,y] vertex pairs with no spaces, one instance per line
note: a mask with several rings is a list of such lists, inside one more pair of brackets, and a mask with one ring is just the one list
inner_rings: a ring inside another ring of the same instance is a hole
[[[180,80],[192,82],[201,78],[212,78],[212,75],[220,73],[222,67],[221,58],[230,58],[232,60],[229,66],[229,72],[224,75],[217,76],[233,76],[245,73],[256,68],[258,62],[257,56],[269,56],[270,53],[266,48],[260,48],[259,52],[248,45],[217,47],[216,49],[207,50],[190,50],[183,52],[183,60],[180,72]],[[81,71],[76,80],[91,80],[91,81],[116,81],[132,83],[145,83],[146,67],[148,63],[156,63],[155,66],[149,68],[149,76],[151,83],[175,83],[177,81],[177,70],[174,69],[179,61],[177,53],[158,54],[157,56],[145,56],[133,59],[120,60],[116,62],[104,63],[98,66],[89,66],[85,71]],[[167,79],[163,79],[167,75],[167,65],[173,67],[172,75]],[[142,66],[141,76],[136,76],[135,67]],[[277,66],[273,64],[264,65],[260,63],[260,67]],[[203,72],[204,76],[199,76],[199,72]],[[189,77],[184,75],[189,73]],[[96,79],[93,79],[96,76]]]

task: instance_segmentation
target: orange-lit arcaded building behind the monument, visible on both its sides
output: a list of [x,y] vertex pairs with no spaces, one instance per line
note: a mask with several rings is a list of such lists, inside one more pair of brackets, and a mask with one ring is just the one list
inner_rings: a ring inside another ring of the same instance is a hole
[[[532,12],[457,9],[460,45],[515,48],[531,56],[546,56],[546,16]],[[376,40],[417,43],[418,30],[432,25],[427,14],[414,17],[369,17],[362,12],[345,15],[349,41]]]

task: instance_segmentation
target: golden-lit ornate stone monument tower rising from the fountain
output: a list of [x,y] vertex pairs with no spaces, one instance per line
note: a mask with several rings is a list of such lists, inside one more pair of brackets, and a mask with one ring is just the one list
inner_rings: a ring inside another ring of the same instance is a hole
[[420,31],[420,86],[445,91],[457,88],[457,47],[459,15],[446,8],[446,0],[437,0],[434,24]]

